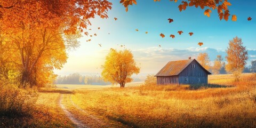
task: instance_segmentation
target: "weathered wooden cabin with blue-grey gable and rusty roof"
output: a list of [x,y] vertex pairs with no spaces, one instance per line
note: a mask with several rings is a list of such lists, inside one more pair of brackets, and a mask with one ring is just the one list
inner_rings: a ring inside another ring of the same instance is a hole
[[196,59],[168,62],[155,76],[157,85],[165,84],[207,84],[211,73]]

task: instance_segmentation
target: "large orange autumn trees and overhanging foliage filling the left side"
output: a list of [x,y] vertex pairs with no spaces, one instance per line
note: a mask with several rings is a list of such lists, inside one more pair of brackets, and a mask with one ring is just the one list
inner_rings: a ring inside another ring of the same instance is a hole
[[111,5],[106,0],[1,1],[0,73],[6,79],[9,71],[20,74],[20,87],[52,83],[53,69],[66,63],[66,51],[79,46],[79,32],[88,35],[89,19],[108,18]]

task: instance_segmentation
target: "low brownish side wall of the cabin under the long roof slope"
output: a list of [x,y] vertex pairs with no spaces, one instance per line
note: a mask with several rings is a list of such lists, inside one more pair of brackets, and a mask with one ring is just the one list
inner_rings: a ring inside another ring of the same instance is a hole
[[179,84],[179,76],[157,76],[157,85]]

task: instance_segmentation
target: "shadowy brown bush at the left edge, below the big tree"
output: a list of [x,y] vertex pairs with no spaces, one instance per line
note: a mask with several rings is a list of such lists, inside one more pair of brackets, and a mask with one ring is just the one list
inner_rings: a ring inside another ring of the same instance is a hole
[[0,81],[0,116],[29,116],[33,113],[37,93],[33,89],[18,89]]

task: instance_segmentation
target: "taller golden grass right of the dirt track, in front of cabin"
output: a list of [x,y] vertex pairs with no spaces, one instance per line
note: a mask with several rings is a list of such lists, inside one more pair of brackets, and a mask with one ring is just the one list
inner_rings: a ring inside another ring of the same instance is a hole
[[[227,81],[225,81],[227,79]],[[211,85],[142,85],[95,91],[77,91],[72,100],[130,127],[255,127],[256,78],[244,74],[214,75]],[[218,85],[218,86],[217,86]]]

